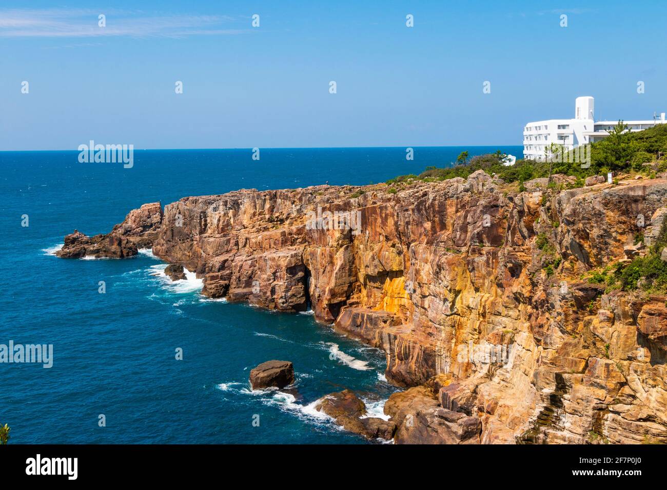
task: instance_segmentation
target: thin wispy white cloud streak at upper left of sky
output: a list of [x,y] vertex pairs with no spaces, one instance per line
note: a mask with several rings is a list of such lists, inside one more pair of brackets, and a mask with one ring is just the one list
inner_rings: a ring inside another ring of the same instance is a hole
[[[106,27],[97,25],[106,16]],[[226,29],[226,15],[143,15],[135,11],[92,9],[0,9],[0,37],[187,37],[230,35],[250,29]]]

